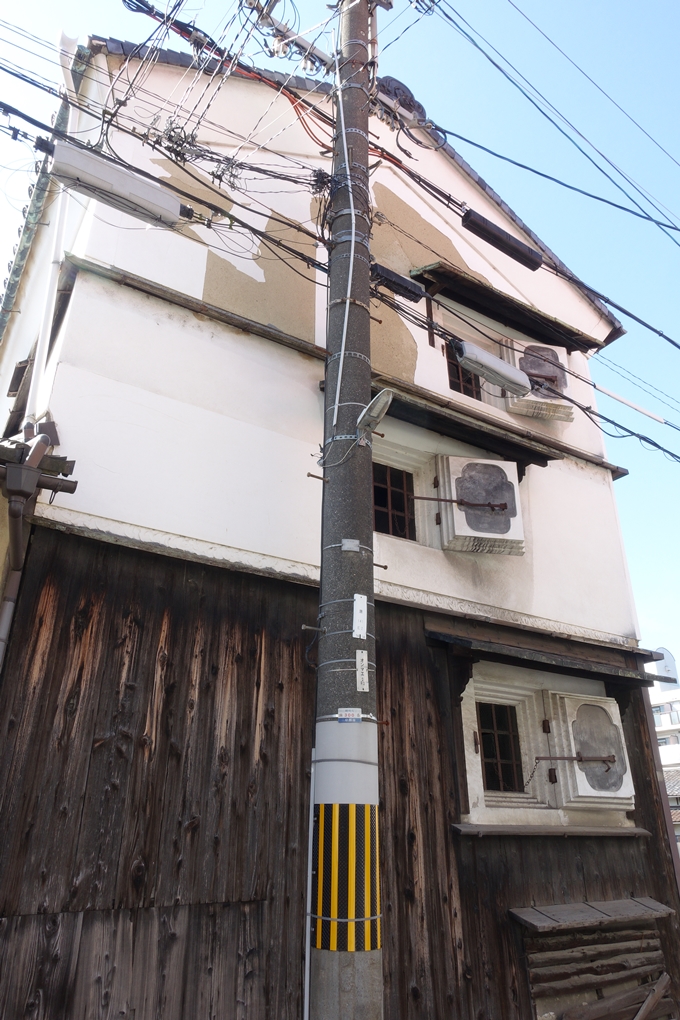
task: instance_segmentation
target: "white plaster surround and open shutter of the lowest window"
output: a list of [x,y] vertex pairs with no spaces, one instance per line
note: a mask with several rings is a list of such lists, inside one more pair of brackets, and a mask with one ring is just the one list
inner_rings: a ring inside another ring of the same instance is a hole
[[[484,789],[477,703],[514,706],[523,792]],[[634,807],[634,788],[619,706],[599,681],[481,662],[462,711],[470,803],[464,821],[633,824],[626,817]],[[577,761],[579,755],[586,760]],[[597,756],[615,761],[587,760]]]

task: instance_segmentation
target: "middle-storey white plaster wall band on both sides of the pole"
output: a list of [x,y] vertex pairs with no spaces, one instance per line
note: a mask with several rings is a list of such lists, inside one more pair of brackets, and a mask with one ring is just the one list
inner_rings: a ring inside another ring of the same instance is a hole
[[[315,579],[321,483],[307,472],[320,473],[322,368],[81,274],[53,354],[50,402],[80,484],[52,506],[42,501],[39,515],[224,562],[269,557],[268,569]],[[375,458],[413,470],[421,495],[434,495],[436,454],[488,456],[390,418],[383,426]],[[569,460],[529,467],[520,496],[524,556],[442,552],[436,507],[420,503],[421,542],[376,536],[376,562],[388,567],[376,571],[378,595],[633,640],[609,473]]]

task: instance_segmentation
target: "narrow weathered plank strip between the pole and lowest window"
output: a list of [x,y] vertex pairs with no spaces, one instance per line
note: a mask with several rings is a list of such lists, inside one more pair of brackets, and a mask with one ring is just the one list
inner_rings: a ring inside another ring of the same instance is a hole
[[388,723],[379,726],[385,1017],[467,1017],[449,677],[425,646],[420,612],[376,610],[378,715]]

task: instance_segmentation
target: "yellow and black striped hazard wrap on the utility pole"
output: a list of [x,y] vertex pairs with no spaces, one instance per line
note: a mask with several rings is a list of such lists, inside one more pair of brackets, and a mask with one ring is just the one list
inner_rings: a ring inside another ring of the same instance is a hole
[[379,859],[377,805],[316,805],[311,914],[317,950],[381,949]]

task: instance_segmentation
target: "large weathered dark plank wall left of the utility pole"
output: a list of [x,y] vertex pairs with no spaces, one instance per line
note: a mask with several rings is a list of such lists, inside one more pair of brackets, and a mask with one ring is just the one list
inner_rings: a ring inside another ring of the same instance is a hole
[[0,1016],[300,1016],[316,602],[36,529],[0,688]]

